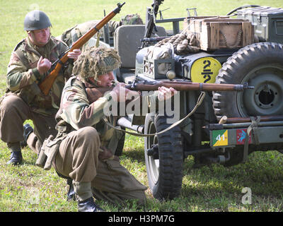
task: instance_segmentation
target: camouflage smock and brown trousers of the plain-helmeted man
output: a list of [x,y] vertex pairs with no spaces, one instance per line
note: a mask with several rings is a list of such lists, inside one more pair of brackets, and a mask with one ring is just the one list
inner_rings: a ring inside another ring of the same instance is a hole
[[[0,138],[8,143],[23,141],[23,122],[32,119],[33,136],[28,145],[37,151],[50,134],[56,135],[54,116],[59,109],[62,89],[71,75],[72,64],[65,64],[57,76],[50,93],[44,95],[38,84],[45,78],[37,70],[40,56],[56,61],[68,49],[67,44],[54,37],[44,47],[33,45],[25,38],[16,45],[8,63],[6,94],[1,98]],[[35,143],[35,141],[37,144]]]

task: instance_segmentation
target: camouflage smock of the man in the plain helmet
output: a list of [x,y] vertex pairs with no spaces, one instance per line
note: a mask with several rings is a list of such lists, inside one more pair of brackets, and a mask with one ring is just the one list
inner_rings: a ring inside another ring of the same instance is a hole
[[28,37],[22,40],[11,54],[6,76],[6,93],[14,93],[21,97],[29,107],[33,108],[33,112],[45,115],[56,114],[64,84],[71,76],[72,66],[66,64],[63,67],[50,93],[45,96],[39,90],[38,84],[44,80],[47,73],[40,75],[37,61],[42,56],[53,63],[67,49],[67,44],[54,37],[50,37],[50,41],[44,47],[33,45]]

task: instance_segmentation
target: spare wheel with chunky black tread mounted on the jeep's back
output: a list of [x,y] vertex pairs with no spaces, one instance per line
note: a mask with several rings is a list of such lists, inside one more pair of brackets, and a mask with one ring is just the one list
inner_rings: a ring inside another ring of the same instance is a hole
[[250,44],[223,64],[216,83],[253,85],[243,92],[213,92],[217,119],[276,115],[283,112],[283,45],[274,42]]

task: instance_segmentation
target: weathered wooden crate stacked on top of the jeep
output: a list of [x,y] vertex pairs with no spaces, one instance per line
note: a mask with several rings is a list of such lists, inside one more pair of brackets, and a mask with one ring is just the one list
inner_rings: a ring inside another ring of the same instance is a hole
[[214,17],[187,21],[187,28],[196,35],[202,50],[241,48],[254,42],[249,20]]

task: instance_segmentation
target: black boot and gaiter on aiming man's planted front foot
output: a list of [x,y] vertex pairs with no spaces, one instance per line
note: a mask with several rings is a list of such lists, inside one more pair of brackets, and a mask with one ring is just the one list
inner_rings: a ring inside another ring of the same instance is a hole
[[78,202],[79,212],[102,212],[103,209],[93,201],[91,182],[74,182],[74,192]]

